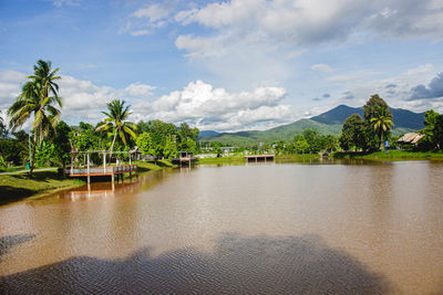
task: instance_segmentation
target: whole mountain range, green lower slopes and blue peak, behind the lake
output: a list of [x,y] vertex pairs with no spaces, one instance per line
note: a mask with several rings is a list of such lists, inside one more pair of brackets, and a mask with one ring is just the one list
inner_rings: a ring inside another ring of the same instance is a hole
[[[393,116],[393,135],[419,130],[424,127],[424,113],[414,113],[402,108],[391,108]],[[220,141],[230,145],[248,145],[258,141],[271,143],[275,140],[292,140],[295,135],[303,129],[316,129],[320,134],[340,135],[343,122],[352,114],[363,117],[363,107],[339,105],[326,113],[311,118],[299,119],[291,124],[281,125],[268,130],[248,130],[237,133],[217,133],[213,130],[200,131],[202,141]]]

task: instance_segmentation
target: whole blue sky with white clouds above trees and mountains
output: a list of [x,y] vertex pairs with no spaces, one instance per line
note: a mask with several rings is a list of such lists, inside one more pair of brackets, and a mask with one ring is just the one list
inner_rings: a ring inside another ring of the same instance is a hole
[[[268,129],[379,94],[443,113],[443,0],[0,0],[0,109],[38,60],[62,119]],[[29,128],[28,125],[24,128]]]

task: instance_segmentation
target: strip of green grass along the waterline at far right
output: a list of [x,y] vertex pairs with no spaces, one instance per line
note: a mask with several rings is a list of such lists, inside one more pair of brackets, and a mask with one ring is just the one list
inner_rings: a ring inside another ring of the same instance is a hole
[[375,151],[371,154],[364,152],[334,152],[332,157],[336,159],[364,159],[364,160],[383,160],[383,161],[404,161],[404,160],[443,160],[442,152],[421,152],[405,150],[387,150]]

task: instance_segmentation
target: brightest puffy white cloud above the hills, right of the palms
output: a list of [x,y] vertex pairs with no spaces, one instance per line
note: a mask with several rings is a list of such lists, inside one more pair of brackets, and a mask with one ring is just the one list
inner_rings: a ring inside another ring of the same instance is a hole
[[253,92],[229,93],[196,81],[183,91],[172,92],[140,107],[163,120],[176,124],[187,122],[200,129],[226,131],[291,122],[295,117],[291,107],[281,104],[285,96],[286,91],[281,87],[256,87]]

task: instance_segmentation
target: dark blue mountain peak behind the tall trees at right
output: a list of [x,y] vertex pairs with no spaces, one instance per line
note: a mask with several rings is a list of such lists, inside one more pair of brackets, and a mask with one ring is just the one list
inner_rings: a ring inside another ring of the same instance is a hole
[[[402,108],[389,108],[393,116],[394,129],[422,129],[424,127],[424,113],[413,113]],[[350,107],[339,105],[321,115],[315,116],[311,119],[327,125],[342,125],[344,120],[352,114],[359,114],[363,117],[363,107]]]

